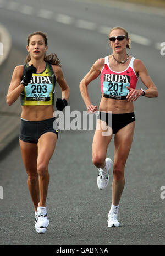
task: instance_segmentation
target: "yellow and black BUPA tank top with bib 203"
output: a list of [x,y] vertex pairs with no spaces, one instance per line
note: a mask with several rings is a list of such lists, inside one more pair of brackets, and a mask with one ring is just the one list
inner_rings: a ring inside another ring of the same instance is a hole
[[[22,80],[25,77],[25,67],[29,67],[29,64],[24,64]],[[53,105],[55,85],[56,76],[54,75],[51,64],[46,62],[45,70],[40,74],[33,73],[30,83],[28,83],[28,85],[25,86],[23,92],[21,92],[21,105]]]

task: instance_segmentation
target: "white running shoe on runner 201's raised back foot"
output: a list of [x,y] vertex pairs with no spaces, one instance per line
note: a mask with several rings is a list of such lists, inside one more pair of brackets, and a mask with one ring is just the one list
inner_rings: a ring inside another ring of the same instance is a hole
[[109,182],[109,170],[113,165],[111,158],[106,158],[107,171],[103,171],[101,168],[98,169],[97,186],[98,189],[105,189]]

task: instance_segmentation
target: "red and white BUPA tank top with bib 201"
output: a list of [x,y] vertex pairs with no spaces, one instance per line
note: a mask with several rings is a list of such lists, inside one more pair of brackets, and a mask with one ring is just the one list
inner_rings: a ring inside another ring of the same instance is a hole
[[138,77],[134,70],[134,60],[132,57],[127,69],[117,72],[109,66],[108,56],[105,57],[105,65],[101,71],[101,92],[104,93],[104,97],[125,100],[129,93],[127,86],[136,88]]

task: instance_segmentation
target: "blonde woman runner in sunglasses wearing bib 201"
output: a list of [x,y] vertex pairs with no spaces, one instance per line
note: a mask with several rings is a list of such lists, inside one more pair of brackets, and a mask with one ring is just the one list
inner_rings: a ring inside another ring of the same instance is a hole
[[[97,177],[99,189],[105,189],[108,185],[109,169],[113,165],[112,205],[108,214],[108,227],[120,226],[119,201],[125,185],[124,169],[135,128],[133,103],[140,96],[158,97],[158,90],[142,61],[127,54],[130,43],[127,30],[122,27],[112,28],[109,32],[109,45],[111,45],[113,54],[98,59],[80,82],[80,91],[85,105],[89,112],[95,112],[97,106],[91,103],[87,86],[101,74],[102,98],[92,144],[92,158],[99,170]],[[139,76],[147,90],[136,89]],[[108,113],[111,111],[112,113]],[[105,125],[108,133],[111,131],[108,135],[105,134]],[[114,162],[106,158],[107,148],[113,134],[115,134]]]

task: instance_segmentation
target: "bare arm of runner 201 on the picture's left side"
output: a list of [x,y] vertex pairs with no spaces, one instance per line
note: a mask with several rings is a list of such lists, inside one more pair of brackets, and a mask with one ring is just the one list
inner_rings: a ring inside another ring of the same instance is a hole
[[83,100],[87,108],[91,105],[87,86],[92,80],[95,80],[100,75],[104,62],[105,60],[103,58],[98,59],[91,67],[90,71],[85,75],[83,80],[81,80],[80,82],[81,96],[83,97]]

